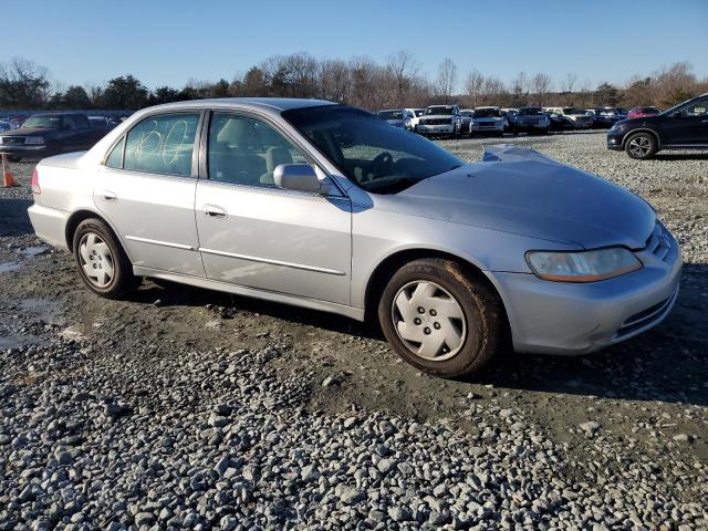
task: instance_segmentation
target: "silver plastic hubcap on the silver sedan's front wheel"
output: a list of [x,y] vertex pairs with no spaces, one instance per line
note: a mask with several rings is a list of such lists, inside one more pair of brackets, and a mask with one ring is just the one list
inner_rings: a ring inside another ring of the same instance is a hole
[[462,308],[435,282],[414,281],[398,290],[392,319],[400,341],[424,360],[449,360],[465,344],[467,325]]

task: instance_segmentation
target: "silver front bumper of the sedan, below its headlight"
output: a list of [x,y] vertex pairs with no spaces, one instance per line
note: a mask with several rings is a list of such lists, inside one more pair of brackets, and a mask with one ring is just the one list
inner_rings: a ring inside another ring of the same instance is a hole
[[589,283],[550,282],[527,273],[489,273],[507,309],[514,350],[580,355],[659,324],[678,296],[680,250],[670,237],[659,259],[637,252],[644,267]]

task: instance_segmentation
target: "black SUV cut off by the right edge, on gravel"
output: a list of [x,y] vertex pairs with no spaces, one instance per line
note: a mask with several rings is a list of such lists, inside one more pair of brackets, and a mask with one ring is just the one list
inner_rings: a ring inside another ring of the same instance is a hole
[[617,122],[607,148],[632,158],[650,158],[660,149],[708,149],[708,93],[654,116]]

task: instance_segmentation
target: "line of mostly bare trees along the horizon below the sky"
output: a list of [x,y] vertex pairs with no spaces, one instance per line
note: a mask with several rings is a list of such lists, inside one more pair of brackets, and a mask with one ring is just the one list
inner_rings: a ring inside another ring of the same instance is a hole
[[[461,91],[459,90],[461,88]],[[445,59],[435,77],[420,73],[420,63],[406,51],[391,54],[382,64],[372,59],[316,59],[300,52],[271,56],[237,73],[231,81],[190,80],[181,88],[147,88],[131,74],[103,85],[63,86],[50,81],[48,70],[15,58],[0,64],[0,108],[138,110],[149,105],[205,97],[277,96],[316,97],[368,108],[420,107],[456,103],[466,107],[502,105],[624,106],[667,108],[697,93],[708,92],[708,77],[698,79],[689,63],[679,62],[656,72],[635,75],[623,86],[608,82],[592,86],[576,73],[553,80],[540,72],[520,72],[510,82],[469,71],[464,79]]]

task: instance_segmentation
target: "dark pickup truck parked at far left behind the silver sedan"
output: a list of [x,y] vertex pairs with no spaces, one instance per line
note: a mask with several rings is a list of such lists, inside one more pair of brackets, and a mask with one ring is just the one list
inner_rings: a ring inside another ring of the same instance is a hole
[[30,116],[18,129],[0,134],[0,153],[11,162],[39,160],[93,147],[107,128],[92,128],[81,113],[41,113]]

